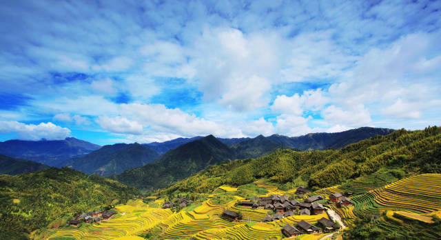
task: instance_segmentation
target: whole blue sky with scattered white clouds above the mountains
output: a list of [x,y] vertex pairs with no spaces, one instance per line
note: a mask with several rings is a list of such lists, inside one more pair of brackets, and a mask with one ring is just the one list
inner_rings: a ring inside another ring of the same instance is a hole
[[441,124],[441,1],[2,1],[0,141]]

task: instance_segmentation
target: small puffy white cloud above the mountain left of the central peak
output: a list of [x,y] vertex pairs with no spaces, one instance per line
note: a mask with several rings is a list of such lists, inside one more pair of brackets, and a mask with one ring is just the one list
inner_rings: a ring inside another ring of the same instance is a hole
[[125,134],[142,134],[143,126],[136,121],[131,121],[125,117],[117,116],[114,118],[107,116],[100,116],[96,123],[101,126],[104,130],[115,132],[115,133],[125,133]]

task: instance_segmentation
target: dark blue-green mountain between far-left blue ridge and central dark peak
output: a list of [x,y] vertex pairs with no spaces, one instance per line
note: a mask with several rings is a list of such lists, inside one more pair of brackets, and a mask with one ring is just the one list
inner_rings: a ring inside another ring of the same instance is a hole
[[99,150],[90,152],[83,157],[70,159],[64,166],[88,174],[96,173],[100,176],[120,174],[124,170],[144,166],[159,156],[154,150],[139,143],[103,146]]

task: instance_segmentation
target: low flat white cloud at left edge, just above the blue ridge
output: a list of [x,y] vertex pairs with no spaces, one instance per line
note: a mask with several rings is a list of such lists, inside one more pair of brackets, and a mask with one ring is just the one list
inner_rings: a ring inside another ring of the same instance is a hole
[[41,138],[58,140],[70,136],[68,128],[62,128],[51,122],[34,125],[18,121],[0,121],[0,132],[17,133],[20,139],[25,140],[39,140]]

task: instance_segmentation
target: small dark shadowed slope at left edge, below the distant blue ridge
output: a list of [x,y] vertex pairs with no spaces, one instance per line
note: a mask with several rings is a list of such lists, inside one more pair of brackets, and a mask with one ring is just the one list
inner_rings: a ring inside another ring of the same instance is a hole
[[23,159],[14,159],[0,154],[0,174],[16,175],[24,172],[35,172],[37,170],[50,168],[47,165]]

